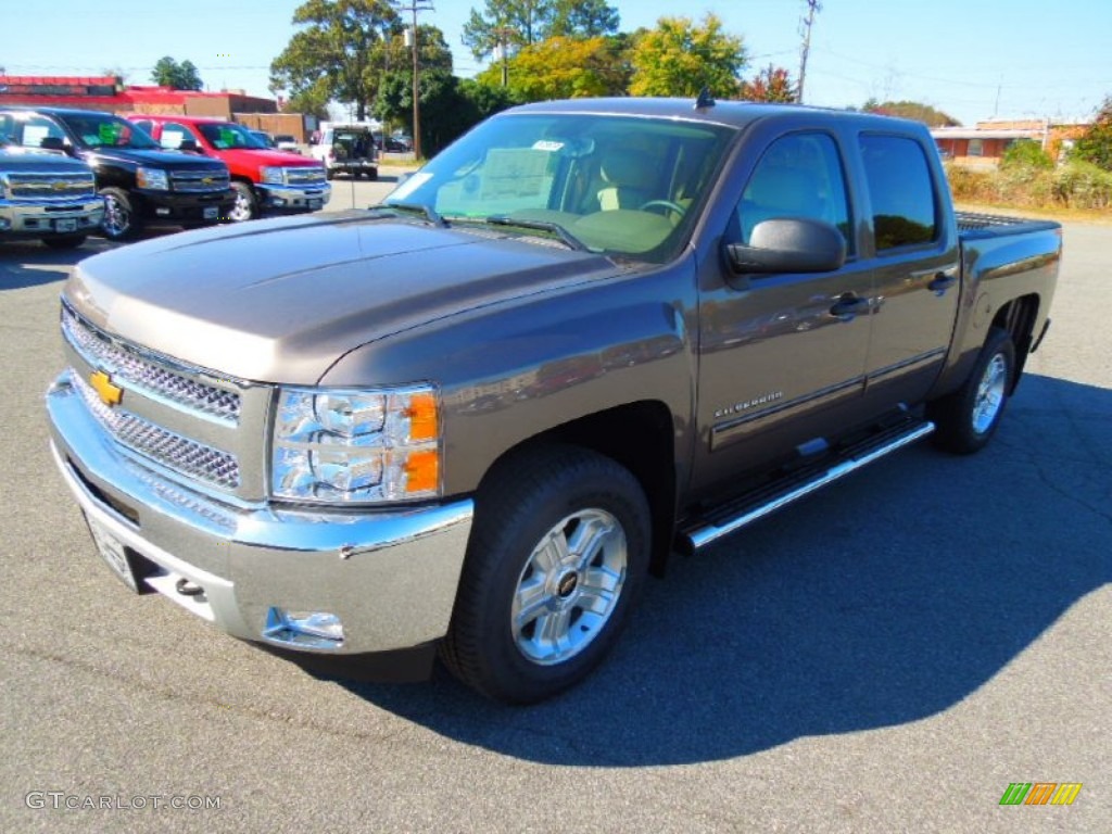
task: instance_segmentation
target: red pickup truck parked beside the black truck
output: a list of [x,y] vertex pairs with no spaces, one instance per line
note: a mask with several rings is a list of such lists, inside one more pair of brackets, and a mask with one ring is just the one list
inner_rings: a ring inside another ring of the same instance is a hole
[[264,212],[318,211],[331,196],[320,162],[268,148],[242,125],[196,116],[136,113],[128,118],[163,148],[215,157],[228,166],[236,191],[228,220],[252,220]]

